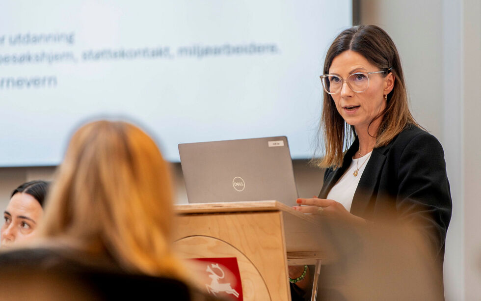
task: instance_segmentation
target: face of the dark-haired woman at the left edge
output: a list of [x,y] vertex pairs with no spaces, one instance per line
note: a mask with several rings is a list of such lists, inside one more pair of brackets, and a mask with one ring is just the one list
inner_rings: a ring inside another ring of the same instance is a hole
[[40,203],[30,194],[15,193],[3,212],[1,246],[27,241],[35,236],[35,230],[43,217]]

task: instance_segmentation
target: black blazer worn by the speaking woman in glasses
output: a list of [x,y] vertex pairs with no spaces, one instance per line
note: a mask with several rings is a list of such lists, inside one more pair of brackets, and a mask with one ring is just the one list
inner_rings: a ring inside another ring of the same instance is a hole
[[[356,139],[344,156],[342,167],[326,170],[320,198],[327,197],[358,148]],[[451,210],[441,144],[426,131],[408,125],[388,145],[374,148],[354,193],[350,212],[368,220],[395,213],[401,219],[419,222],[434,247],[436,259],[442,262]]]

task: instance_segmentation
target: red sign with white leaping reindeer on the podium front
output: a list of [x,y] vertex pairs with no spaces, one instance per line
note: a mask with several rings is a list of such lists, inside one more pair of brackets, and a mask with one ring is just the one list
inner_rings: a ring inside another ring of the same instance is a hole
[[236,257],[224,258],[196,258],[205,264],[203,283],[208,294],[227,298],[229,300],[243,301],[242,283],[240,281],[239,265]]

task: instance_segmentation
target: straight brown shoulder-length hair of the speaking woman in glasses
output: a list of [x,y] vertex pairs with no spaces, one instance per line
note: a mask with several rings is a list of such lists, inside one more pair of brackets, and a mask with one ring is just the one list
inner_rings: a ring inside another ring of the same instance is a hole
[[[374,148],[387,145],[409,123],[419,126],[409,111],[398,50],[386,31],[374,25],[360,25],[341,32],[327,51],[323,74],[328,74],[333,59],[347,50],[363,55],[380,70],[389,70],[395,77],[394,88],[387,95],[386,109],[374,118],[382,118]],[[388,74],[386,72],[384,76]],[[324,157],[316,163],[323,168],[340,167],[356,134],[354,127],[348,125],[337,111],[332,96],[325,91],[319,130],[324,138]]]

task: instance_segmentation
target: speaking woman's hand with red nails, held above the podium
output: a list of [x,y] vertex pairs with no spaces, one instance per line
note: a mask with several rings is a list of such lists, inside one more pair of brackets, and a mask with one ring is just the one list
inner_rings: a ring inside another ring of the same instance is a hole
[[329,219],[345,221],[354,225],[366,224],[366,220],[349,213],[344,206],[335,200],[325,198],[298,198],[294,210],[302,213],[316,214]]

